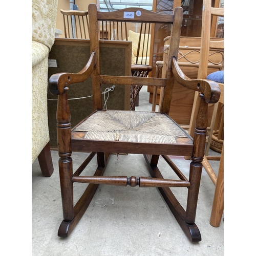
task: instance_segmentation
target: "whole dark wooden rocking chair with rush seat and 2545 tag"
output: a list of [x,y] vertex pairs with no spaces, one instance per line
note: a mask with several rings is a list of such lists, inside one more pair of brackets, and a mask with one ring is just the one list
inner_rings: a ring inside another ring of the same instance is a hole
[[[191,80],[179,69],[177,55],[181,32],[183,9],[177,7],[173,15],[162,15],[141,8],[127,8],[115,12],[99,12],[95,4],[89,5],[91,57],[78,73],[58,73],[50,77],[49,89],[58,95],[57,138],[59,152],[59,173],[62,197],[63,221],[58,230],[59,237],[67,237],[77,225],[90,204],[99,184],[132,187],[158,187],[168,207],[173,212],[184,233],[192,242],[201,241],[200,231],[195,224],[197,199],[202,172],[202,160],[207,128],[207,106],[220,97],[217,83]],[[132,18],[127,18],[129,14]],[[165,78],[134,76],[106,76],[100,73],[99,20],[122,22],[151,22],[173,24],[170,35],[167,71]],[[94,112],[75,127],[71,127],[68,91],[71,84],[91,76]],[[174,78],[184,87],[200,92],[200,112],[197,117],[194,140],[167,114],[172,99]],[[102,110],[101,83],[145,84],[164,87],[161,112],[138,112]],[[73,173],[72,151],[91,152],[88,158]],[[111,153],[142,154],[152,177],[103,176]],[[98,167],[94,176],[80,176],[83,169],[96,155]],[[177,180],[164,179],[157,167],[162,155],[177,174]],[[191,156],[189,178],[185,177],[168,156]],[[90,183],[74,206],[73,183]],[[187,189],[186,210],[176,199],[169,187]]]

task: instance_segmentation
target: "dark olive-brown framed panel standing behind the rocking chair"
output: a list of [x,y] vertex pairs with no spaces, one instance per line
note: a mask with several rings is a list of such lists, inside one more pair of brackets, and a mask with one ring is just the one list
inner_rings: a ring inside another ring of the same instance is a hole
[[[100,72],[102,75],[129,76],[131,73],[131,42],[100,43]],[[90,58],[90,40],[87,39],[64,39],[56,38],[49,53],[49,59],[56,60],[56,67],[49,67],[48,80],[51,75],[60,72],[77,73]],[[102,84],[101,91],[110,88],[111,84]],[[71,125],[75,126],[83,118],[93,111],[91,77],[84,82],[75,83],[70,86],[68,93],[71,112]],[[107,94],[105,95],[108,96]],[[87,97],[87,98],[83,98]],[[81,99],[74,99],[81,98]],[[57,147],[56,134],[56,108],[57,96],[48,91],[48,120],[50,145]],[[109,93],[106,102],[108,109],[129,110],[130,109],[130,87],[116,85],[114,91]],[[104,97],[102,95],[102,105]]]

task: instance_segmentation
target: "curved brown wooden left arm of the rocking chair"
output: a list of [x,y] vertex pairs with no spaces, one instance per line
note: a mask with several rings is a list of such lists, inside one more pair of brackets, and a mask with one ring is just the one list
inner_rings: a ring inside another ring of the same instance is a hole
[[49,79],[49,90],[51,94],[63,94],[69,90],[69,84],[83,82],[91,75],[96,63],[95,52],[92,52],[87,65],[78,73],[57,73]]

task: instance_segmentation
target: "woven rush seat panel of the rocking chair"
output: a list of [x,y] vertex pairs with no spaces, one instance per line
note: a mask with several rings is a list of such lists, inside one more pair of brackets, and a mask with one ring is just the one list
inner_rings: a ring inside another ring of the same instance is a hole
[[165,114],[139,111],[97,111],[74,129],[84,132],[86,140],[142,143],[176,143],[177,138],[189,138]]

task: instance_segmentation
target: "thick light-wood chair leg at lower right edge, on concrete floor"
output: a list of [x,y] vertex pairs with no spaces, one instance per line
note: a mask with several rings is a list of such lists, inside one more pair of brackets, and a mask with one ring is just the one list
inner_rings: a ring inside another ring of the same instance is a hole
[[219,227],[224,210],[224,147],[222,148],[219,173],[211,208],[210,224]]

